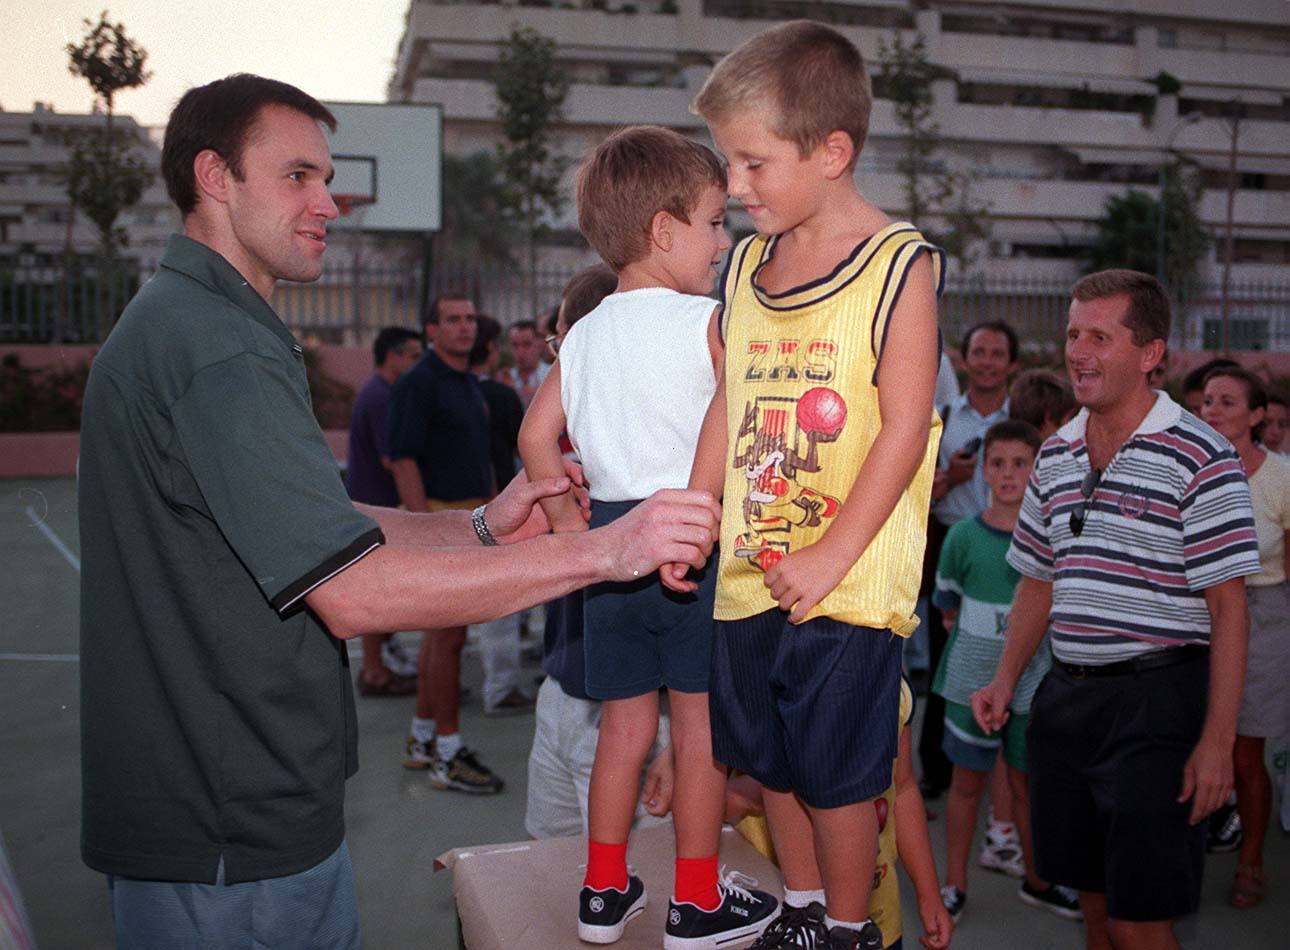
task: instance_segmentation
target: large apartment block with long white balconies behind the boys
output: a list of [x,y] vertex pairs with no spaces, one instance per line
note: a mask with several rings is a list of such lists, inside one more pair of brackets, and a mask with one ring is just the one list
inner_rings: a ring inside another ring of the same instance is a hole
[[[833,25],[877,62],[880,40],[921,34],[938,160],[975,176],[992,235],[975,267],[1068,279],[1108,196],[1155,192],[1167,150],[1201,169],[1201,217],[1222,234],[1236,136],[1233,275],[1285,280],[1290,265],[1290,9],[1284,0],[413,0],[388,86],[437,102],[444,142],[467,155],[501,141],[491,75],[513,26],[553,39],[571,79],[560,147],[578,157],[613,128],[658,123],[706,137],[689,103],[724,53],[774,22]],[[900,213],[900,134],[875,102],[858,178]],[[571,213],[570,213],[571,216]],[[577,247],[571,217],[553,244]],[[740,223],[738,216],[735,227]],[[935,222],[931,222],[935,223]],[[557,257],[559,252],[552,252]],[[569,257],[570,252],[564,252]],[[1218,243],[1204,265],[1216,278]]]

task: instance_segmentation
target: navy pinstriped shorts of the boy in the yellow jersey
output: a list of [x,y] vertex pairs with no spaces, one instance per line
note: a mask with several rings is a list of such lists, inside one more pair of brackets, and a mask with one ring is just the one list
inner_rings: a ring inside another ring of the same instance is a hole
[[811,808],[867,802],[891,783],[900,638],[775,608],[717,621],[712,754]]

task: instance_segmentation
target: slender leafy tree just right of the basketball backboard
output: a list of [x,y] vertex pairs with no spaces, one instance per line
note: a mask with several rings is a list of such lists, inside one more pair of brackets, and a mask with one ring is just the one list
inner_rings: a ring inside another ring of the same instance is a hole
[[555,41],[530,27],[513,28],[502,44],[494,86],[506,136],[498,159],[524,228],[529,296],[537,311],[538,237],[546,230],[544,216],[564,208],[560,179],[566,161],[553,152],[552,138],[564,117],[569,77],[556,63]]

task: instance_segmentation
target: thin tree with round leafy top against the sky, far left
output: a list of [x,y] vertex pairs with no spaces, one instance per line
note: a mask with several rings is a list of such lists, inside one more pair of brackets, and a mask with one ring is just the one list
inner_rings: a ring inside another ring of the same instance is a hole
[[77,134],[68,141],[67,196],[74,208],[85,212],[99,231],[99,249],[111,259],[125,241],[116,219],[121,212],[138,204],[143,190],[152,181],[147,164],[134,151],[133,134],[123,136],[114,128],[116,96],[125,89],[143,85],[147,50],[132,40],[123,23],[110,23],[107,10],[98,22],[85,19],[80,43],[68,43],[67,71],[81,76],[94,90],[95,102],[104,112],[101,134]]

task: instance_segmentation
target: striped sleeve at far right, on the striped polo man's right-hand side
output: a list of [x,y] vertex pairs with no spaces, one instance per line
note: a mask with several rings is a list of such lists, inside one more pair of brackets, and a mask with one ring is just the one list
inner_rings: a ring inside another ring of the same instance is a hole
[[1250,484],[1235,450],[1223,449],[1201,466],[1178,511],[1188,587],[1206,590],[1259,573]]

